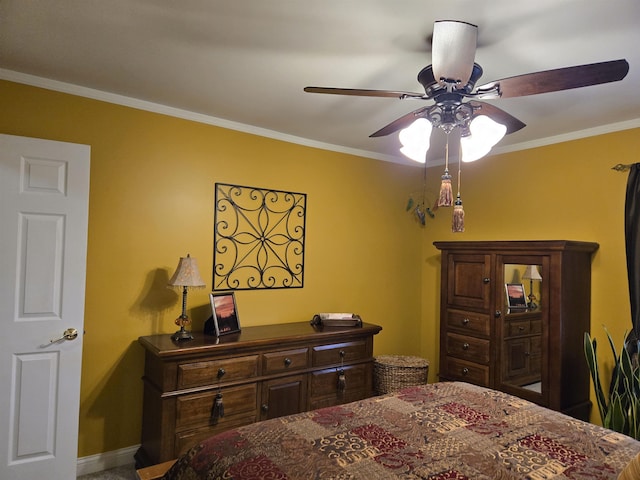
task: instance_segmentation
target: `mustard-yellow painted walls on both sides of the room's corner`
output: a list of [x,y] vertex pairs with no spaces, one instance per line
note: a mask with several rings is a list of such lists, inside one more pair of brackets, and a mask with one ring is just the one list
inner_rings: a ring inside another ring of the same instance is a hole
[[[95,100],[0,81],[0,132],[91,145],[91,193],[80,456],[139,443],[140,335],[175,330],[178,258],[198,259],[210,286],[215,182],[307,194],[304,288],[239,291],[243,326],[355,311],[383,326],[375,353],[420,354],[438,370],[435,240],[596,241],[592,331],[630,324],[624,260],[626,174],[640,130],[463,166],[463,234],[440,209],[426,228],[405,212],[422,170],[287,144]],[[429,172],[435,197],[441,168]],[[189,295],[194,328],[208,290]]]

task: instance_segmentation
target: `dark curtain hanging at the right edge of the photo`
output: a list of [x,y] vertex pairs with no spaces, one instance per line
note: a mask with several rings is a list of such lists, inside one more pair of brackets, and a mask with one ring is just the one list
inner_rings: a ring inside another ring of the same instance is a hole
[[640,339],[640,163],[631,165],[627,180],[624,234],[633,327],[627,338],[627,347],[635,353]]

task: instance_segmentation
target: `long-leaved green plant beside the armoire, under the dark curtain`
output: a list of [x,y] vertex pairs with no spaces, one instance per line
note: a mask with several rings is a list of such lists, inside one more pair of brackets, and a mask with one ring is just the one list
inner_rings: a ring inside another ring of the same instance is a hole
[[[617,353],[611,335],[607,332],[613,354],[613,369],[609,388],[600,382],[596,339],[588,332],[584,334],[584,352],[591,372],[598,410],[602,425],[635,439],[640,439],[640,369],[637,361],[638,341],[628,339],[624,342],[620,354]],[[625,335],[625,338],[627,336]],[[632,347],[636,347],[632,350]],[[629,350],[632,350],[630,353]]]

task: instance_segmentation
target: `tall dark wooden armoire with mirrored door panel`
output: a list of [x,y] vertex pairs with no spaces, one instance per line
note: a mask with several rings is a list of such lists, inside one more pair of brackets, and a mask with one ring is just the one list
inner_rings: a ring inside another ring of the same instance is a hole
[[[442,251],[441,380],[501,390],[588,420],[584,333],[591,326],[591,257],[569,240],[434,242]],[[541,279],[527,280],[527,268]],[[505,284],[533,306],[510,308]]]

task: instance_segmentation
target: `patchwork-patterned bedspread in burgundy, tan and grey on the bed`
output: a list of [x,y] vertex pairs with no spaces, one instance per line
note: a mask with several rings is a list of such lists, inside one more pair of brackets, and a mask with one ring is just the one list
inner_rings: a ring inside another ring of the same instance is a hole
[[247,425],[163,477],[615,479],[640,442],[505,393],[434,383]]

